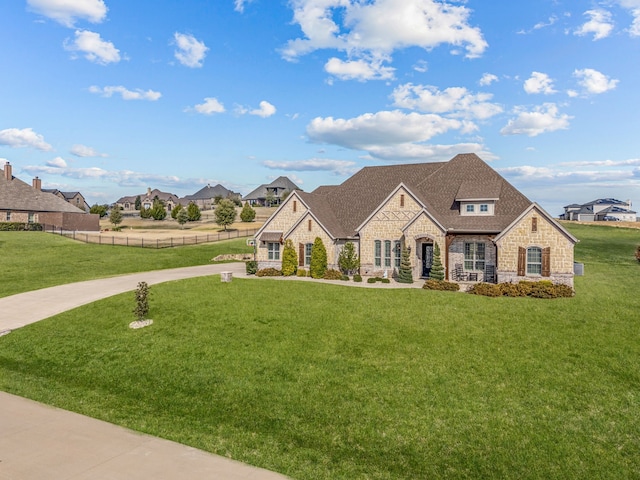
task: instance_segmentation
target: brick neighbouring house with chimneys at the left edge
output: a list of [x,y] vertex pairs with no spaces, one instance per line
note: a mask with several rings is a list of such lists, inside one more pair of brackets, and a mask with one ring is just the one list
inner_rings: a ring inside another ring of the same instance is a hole
[[42,191],[38,177],[33,179],[32,185],[26,184],[13,176],[9,162],[0,172],[0,222],[40,223],[62,230],[100,230],[98,215]]

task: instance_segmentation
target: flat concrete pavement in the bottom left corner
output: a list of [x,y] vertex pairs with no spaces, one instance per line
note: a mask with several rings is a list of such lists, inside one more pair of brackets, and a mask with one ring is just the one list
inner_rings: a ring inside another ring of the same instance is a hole
[[286,478],[0,392],[0,480]]

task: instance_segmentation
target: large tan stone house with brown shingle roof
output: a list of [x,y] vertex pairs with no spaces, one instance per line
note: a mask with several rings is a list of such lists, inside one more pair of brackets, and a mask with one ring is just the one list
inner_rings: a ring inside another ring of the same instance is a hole
[[451,281],[573,286],[577,239],[475,154],[365,167],[341,185],[293,191],[256,233],[258,268],[280,268],[287,239],[308,268],[316,237],[329,268],[353,242],[364,276],[395,275],[406,245],[413,277],[428,278],[438,244]]

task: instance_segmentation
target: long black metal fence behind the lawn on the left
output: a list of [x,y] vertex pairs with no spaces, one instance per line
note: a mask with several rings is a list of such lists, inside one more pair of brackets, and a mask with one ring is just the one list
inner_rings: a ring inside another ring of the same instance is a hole
[[220,242],[222,240],[231,240],[234,238],[247,238],[253,237],[258,231],[257,228],[249,230],[227,230],[217,233],[207,234],[190,234],[169,238],[149,238],[149,237],[130,237],[125,235],[110,235],[108,233],[98,232],[77,232],[62,230],[61,228],[44,225],[43,231],[47,233],[53,233],[56,235],[62,235],[73,240],[77,240],[84,243],[96,243],[98,245],[119,245],[125,247],[140,247],[140,248],[171,248],[182,247],[184,245],[198,245],[201,243],[213,243]]

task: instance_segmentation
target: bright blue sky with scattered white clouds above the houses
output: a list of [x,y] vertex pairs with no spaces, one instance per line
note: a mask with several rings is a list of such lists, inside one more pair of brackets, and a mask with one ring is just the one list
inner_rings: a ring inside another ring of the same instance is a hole
[[475,152],[640,206],[640,0],[21,0],[0,45],[0,165],[91,204]]

